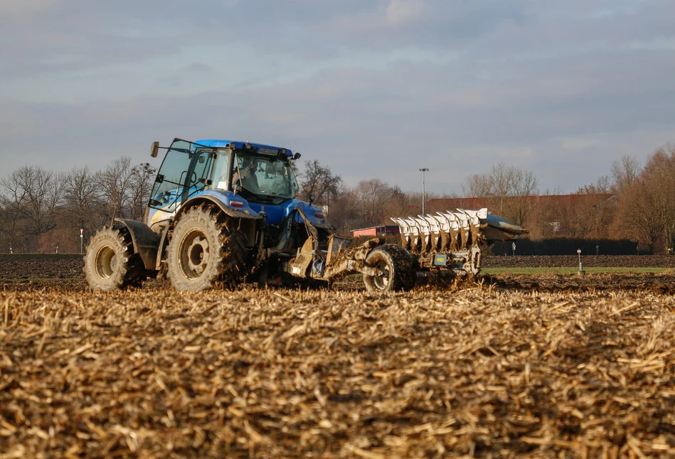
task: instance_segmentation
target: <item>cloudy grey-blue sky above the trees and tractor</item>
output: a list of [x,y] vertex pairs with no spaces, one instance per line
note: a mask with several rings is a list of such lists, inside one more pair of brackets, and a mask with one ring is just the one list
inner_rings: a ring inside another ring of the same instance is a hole
[[0,176],[153,141],[292,148],[345,185],[573,192],[675,141],[671,0],[2,0]]

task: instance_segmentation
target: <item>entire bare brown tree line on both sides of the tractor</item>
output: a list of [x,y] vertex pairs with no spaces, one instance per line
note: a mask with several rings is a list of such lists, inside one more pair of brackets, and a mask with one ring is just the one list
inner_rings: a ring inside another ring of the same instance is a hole
[[[324,208],[342,234],[351,229],[391,225],[389,217],[421,212],[422,193],[405,192],[381,178],[348,187],[319,161],[305,161],[298,172],[299,198]],[[462,183],[463,196],[478,198],[492,212],[529,230],[531,239],[575,237],[632,239],[644,252],[668,252],[675,245],[675,145],[649,155],[644,166],[633,156],[612,163],[610,175],[563,195],[540,190],[531,172],[499,163]],[[115,217],[142,220],[156,170],[122,156],[100,171],[88,166],[55,173],[23,166],[0,179],[0,252],[80,250],[83,241]],[[442,201],[439,201],[442,202]],[[554,202],[555,205],[551,205]],[[431,210],[431,209],[430,209]],[[440,209],[438,209],[440,210]]]

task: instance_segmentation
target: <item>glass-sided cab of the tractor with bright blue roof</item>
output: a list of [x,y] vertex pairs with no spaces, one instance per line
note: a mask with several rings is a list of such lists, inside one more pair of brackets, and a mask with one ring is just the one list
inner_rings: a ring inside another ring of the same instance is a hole
[[[156,156],[158,148],[153,144],[152,156]],[[280,205],[292,200],[299,189],[289,160],[300,155],[287,148],[228,140],[174,139],[166,150],[148,203],[146,222],[150,227],[171,219],[181,202],[204,191],[213,190],[227,197],[240,195],[259,205]]]

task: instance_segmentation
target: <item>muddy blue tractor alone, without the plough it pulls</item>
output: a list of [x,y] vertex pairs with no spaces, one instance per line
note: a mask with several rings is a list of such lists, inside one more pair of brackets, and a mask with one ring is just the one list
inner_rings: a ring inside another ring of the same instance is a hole
[[[166,147],[155,142],[151,156],[159,148]],[[295,198],[292,161],[299,153],[213,139],[174,139],[166,150],[144,222],[116,219],[88,244],[92,289],[139,287],[149,276],[196,291],[243,281],[321,285],[347,273],[384,275],[364,262],[381,242],[351,249],[312,196]]]

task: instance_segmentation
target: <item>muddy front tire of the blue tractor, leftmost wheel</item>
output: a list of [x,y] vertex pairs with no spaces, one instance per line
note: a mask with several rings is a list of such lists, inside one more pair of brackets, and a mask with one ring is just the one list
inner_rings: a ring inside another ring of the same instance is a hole
[[134,252],[129,230],[121,224],[100,229],[87,245],[84,260],[92,290],[140,287],[146,279],[143,260]]

